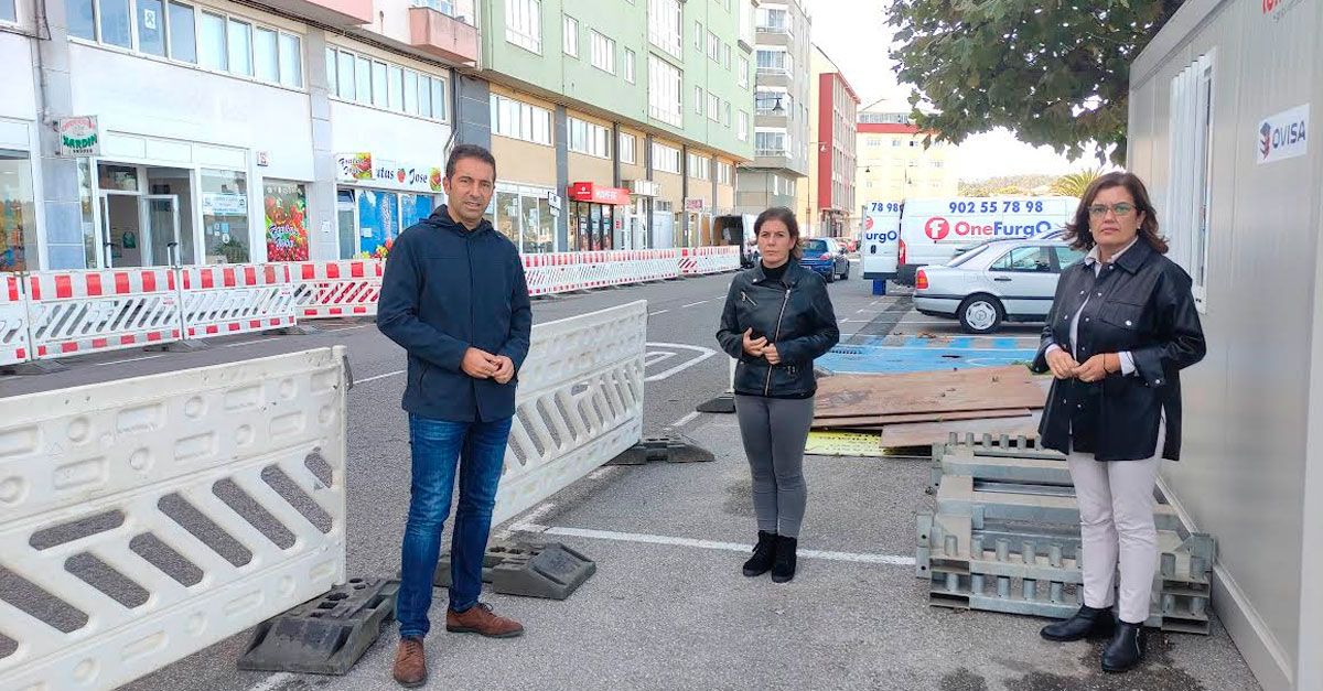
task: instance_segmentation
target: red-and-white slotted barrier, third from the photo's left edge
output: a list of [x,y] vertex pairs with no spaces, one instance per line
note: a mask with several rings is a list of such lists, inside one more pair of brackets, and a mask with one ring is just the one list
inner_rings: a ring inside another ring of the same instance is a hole
[[185,266],[184,334],[191,339],[292,327],[294,283],[287,263]]

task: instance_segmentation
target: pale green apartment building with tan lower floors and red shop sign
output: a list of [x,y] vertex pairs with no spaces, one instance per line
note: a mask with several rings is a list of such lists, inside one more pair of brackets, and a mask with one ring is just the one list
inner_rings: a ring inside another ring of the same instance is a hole
[[[501,168],[492,216],[541,250],[714,244],[753,155],[749,0],[487,0],[459,139]],[[565,196],[556,207],[556,196]],[[545,200],[550,200],[548,205]],[[536,205],[536,212],[533,210]],[[550,207],[550,208],[546,208]],[[544,210],[548,212],[544,216]]]

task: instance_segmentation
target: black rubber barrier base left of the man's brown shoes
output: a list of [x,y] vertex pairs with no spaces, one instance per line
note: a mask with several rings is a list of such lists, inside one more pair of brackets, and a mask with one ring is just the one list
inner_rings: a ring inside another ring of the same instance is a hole
[[258,625],[241,670],[347,674],[396,617],[400,582],[352,578]]

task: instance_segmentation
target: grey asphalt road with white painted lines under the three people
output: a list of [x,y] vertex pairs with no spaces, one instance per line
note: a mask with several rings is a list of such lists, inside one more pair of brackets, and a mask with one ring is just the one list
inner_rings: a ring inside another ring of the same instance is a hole
[[[501,527],[564,541],[594,559],[598,572],[566,601],[484,596],[524,622],[523,638],[435,627],[427,688],[1257,688],[1216,623],[1211,637],[1155,635],[1143,670],[1105,676],[1099,645],[1045,643],[1041,620],[930,608],[913,567],[913,516],[931,504],[923,492],[929,469],[919,462],[808,458],[802,548],[816,553],[800,560],[791,584],[740,576],[755,528],[738,429],[733,416],[693,413],[725,388],[728,361],[713,335],[729,281],[714,275],[534,303],[534,319],[546,322],[648,300],[644,433],[679,429],[717,461],[605,467]],[[831,286],[844,342],[959,332],[954,322],[913,312],[908,297],[875,297],[869,287],[857,278]],[[1008,331],[1029,339],[1037,327]],[[328,344],[348,347],[357,381],[349,393],[349,575],[389,576],[398,568],[409,482],[398,405],[404,353],[369,323],[222,339],[201,352],[87,357],[62,373],[0,377],[0,401]],[[438,592],[434,621],[445,600]],[[237,671],[245,631],[127,688],[396,688],[394,635],[385,631],[348,676],[333,678]]]

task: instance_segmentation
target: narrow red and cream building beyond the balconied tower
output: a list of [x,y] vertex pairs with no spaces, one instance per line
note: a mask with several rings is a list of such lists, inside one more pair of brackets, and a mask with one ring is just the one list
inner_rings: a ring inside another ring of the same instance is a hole
[[[814,45],[812,116],[804,218],[810,234],[843,237],[857,228],[855,203],[859,95],[836,64]],[[803,197],[802,197],[803,199]]]

